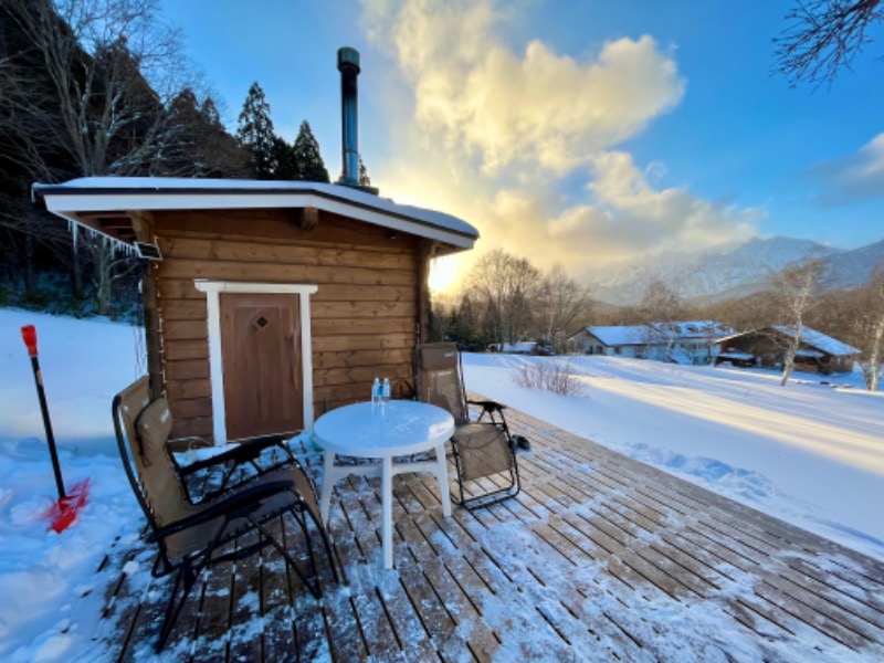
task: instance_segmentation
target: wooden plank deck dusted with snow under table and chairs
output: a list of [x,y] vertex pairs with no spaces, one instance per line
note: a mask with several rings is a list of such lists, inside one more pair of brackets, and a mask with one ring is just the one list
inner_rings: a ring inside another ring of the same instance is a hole
[[[379,480],[350,477],[329,526],[346,585],[326,569],[317,601],[272,550],[218,567],[164,659],[884,660],[884,564],[508,413],[532,441],[517,498],[444,518],[432,477],[397,477],[383,570]],[[147,660],[170,582],[143,543],[117,548],[108,564],[141,571],[107,597],[96,651]]]

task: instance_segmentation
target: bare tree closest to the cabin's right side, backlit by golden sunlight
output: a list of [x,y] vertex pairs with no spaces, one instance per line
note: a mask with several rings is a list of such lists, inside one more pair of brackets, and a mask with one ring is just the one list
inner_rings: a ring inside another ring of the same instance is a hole
[[527,260],[502,249],[486,253],[473,266],[467,284],[485,307],[485,320],[495,343],[515,343],[528,326],[529,303],[539,278],[539,272]]

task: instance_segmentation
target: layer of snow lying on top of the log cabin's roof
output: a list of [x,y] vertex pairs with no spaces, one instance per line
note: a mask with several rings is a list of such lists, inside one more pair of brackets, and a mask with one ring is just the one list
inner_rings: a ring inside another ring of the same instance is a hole
[[[83,177],[70,180],[62,185],[34,185],[35,192],[59,193],[71,190],[77,194],[81,190],[106,190],[108,193],[118,192],[149,192],[175,193],[177,191],[201,191],[210,194],[218,193],[286,193],[292,191],[316,191],[333,198],[344,199],[360,206],[368,206],[388,213],[410,217],[420,222],[429,223],[441,229],[478,238],[478,231],[462,219],[407,204],[397,204],[389,198],[381,198],[359,189],[343,185],[326,185],[324,182],[283,181],[283,180],[228,180],[228,179],[191,179],[175,177]],[[87,203],[84,209],[90,209]]]

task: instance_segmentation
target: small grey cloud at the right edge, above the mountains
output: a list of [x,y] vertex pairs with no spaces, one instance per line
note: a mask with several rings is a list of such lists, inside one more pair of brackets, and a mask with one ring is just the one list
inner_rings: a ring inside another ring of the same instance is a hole
[[884,133],[855,155],[815,165],[811,176],[822,187],[823,204],[845,204],[857,199],[884,196]]

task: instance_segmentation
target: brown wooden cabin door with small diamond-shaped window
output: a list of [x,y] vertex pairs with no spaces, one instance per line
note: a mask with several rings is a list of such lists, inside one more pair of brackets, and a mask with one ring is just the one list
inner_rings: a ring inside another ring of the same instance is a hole
[[299,297],[221,293],[228,440],[304,428]]

